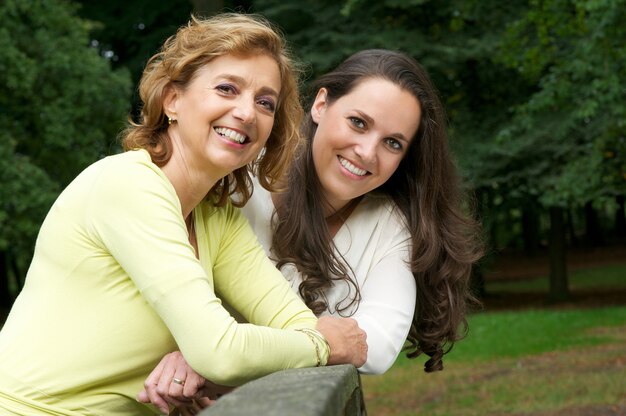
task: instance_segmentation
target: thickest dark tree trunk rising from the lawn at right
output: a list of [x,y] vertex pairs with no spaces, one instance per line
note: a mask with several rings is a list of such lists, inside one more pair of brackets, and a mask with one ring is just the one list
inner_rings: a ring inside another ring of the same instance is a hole
[[569,299],[563,209],[550,207],[550,293],[548,300]]

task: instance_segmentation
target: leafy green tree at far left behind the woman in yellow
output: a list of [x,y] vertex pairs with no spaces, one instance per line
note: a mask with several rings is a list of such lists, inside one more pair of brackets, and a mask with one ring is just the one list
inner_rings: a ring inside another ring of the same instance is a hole
[[6,266],[23,278],[58,192],[119,149],[130,79],[89,46],[88,23],[68,1],[4,0],[0,20],[0,291],[8,293]]

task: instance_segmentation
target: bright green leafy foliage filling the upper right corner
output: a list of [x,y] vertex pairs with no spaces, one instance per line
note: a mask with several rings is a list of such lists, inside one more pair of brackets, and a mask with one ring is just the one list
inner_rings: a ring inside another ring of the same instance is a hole
[[624,18],[621,0],[533,1],[508,29],[498,59],[538,88],[497,141],[524,165],[516,188],[544,206],[626,192]]

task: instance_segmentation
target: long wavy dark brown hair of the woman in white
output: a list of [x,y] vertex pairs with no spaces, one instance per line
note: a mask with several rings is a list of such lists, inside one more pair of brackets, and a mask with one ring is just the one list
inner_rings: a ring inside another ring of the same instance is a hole
[[[469,290],[471,267],[482,254],[479,227],[466,213],[463,192],[448,148],[446,118],[426,71],[412,58],[389,50],[358,52],[314,83],[327,90],[329,105],[366,79],[388,80],[415,96],[421,108],[416,136],[391,178],[373,192],[391,198],[411,235],[410,268],[417,284],[407,356],[430,357],[425,371],[443,369],[443,355],[467,333],[466,312],[476,302]],[[293,263],[303,276],[299,291],[315,312],[327,309],[324,292],[333,280],[356,285],[349,265],[335,255],[324,218],[321,184],[311,142],[316,124],[305,118],[308,146],[291,167],[287,193],[274,218],[278,266]],[[354,302],[358,302],[357,299]]]

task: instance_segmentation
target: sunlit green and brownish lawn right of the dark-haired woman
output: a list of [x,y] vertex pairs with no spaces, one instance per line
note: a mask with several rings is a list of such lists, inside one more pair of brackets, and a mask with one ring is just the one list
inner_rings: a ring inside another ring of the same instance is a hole
[[[498,287],[500,292],[547,291],[547,283],[539,282]],[[570,287],[624,288],[626,265],[577,271]],[[362,377],[368,412],[626,414],[626,305],[480,312],[469,317],[469,326],[468,337],[445,356],[444,371],[426,374],[426,358],[401,356],[384,375]]]

